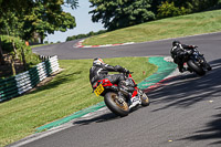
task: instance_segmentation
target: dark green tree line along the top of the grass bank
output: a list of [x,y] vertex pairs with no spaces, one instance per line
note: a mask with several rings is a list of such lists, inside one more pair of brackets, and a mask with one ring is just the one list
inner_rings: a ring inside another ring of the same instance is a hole
[[[90,2],[93,8],[90,11],[92,21],[102,22],[107,31],[221,8],[221,0],[90,0]],[[91,35],[96,33],[69,36],[66,41]]]

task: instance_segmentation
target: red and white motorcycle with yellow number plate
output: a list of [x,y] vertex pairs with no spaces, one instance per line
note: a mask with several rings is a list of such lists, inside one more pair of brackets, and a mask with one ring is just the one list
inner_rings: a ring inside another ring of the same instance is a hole
[[137,87],[137,84],[131,77],[131,72],[122,73],[125,75],[126,81],[124,82],[124,86],[134,87],[136,91],[129,93],[125,91],[125,88],[119,88],[117,84],[113,84],[108,78],[99,80],[96,82],[94,88],[94,93],[97,96],[103,96],[106,106],[118,116],[127,116],[131,108],[137,107],[133,106],[130,102],[130,97],[137,95],[139,105],[148,106],[149,98],[148,96]]

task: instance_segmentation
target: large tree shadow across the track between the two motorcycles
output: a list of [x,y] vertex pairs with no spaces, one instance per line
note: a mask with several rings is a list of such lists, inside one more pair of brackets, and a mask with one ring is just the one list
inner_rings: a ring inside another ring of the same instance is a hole
[[204,76],[198,76],[196,74],[182,74],[178,77],[168,80],[161,84],[168,84],[169,86],[162,86],[158,90],[148,93],[151,97],[151,104],[164,103],[164,107],[154,109],[160,111],[168,107],[189,107],[200,101],[208,101],[211,96],[220,96],[221,87],[221,60],[210,62],[213,67]]

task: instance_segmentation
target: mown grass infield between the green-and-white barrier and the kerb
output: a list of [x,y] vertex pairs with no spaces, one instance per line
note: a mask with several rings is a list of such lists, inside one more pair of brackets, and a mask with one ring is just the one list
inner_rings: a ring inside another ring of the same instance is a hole
[[[157,67],[147,57],[105,59],[110,65],[119,64],[135,73],[137,83],[152,74]],[[97,104],[90,85],[92,60],[60,61],[64,71],[36,91],[0,104],[0,146],[9,145],[35,132],[52,120]],[[143,75],[143,71],[146,74]]]

